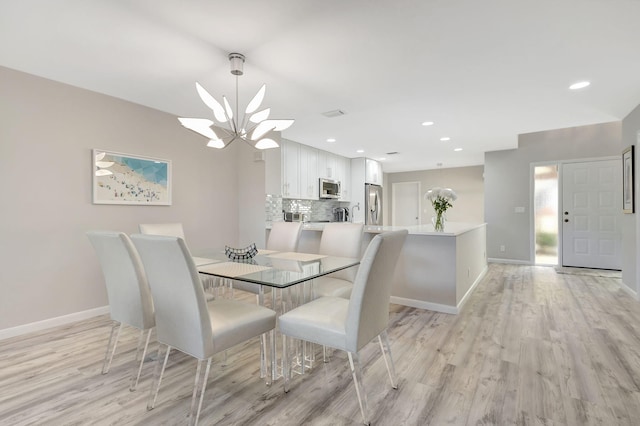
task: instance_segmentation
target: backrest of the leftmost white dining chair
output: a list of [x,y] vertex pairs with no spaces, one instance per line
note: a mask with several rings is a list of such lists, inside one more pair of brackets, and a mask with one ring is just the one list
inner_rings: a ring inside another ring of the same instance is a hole
[[89,231],[107,286],[111,319],[147,330],[155,325],[153,301],[142,262],[123,232]]

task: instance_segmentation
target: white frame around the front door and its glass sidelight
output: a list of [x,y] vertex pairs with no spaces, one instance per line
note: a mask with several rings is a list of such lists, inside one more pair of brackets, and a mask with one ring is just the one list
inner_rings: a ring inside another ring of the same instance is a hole
[[534,183],[535,183],[535,168],[537,166],[551,166],[554,164],[558,165],[558,265],[562,266],[562,200],[563,200],[563,165],[570,163],[589,163],[593,161],[608,161],[608,160],[620,160],[618,156],[606,156],[606,157],[588,157],[588,158],[574,158],[571,160],[556,160],[556,161],[538,161],[529,163],[529,261],[532,265],[536,263],[536,222],[534,215],[534,206],[535,206],[535,191],[534,191]]

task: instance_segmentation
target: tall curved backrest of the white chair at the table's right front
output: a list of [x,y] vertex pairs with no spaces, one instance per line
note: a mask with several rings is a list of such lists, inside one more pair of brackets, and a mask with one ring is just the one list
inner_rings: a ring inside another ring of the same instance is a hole
[[376,235],[362,256],[347,312],[347,349],[357,352],[387,328],[391,284],[408,231]]

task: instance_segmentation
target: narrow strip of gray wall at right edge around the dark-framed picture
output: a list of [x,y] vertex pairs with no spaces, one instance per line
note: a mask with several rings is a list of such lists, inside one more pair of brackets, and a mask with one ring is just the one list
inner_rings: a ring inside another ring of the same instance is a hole
[[640,105],[622,120],[622,142],[620,151],[634,145],[635,146],[635,214],[622,215],[622,282],[636,293],[640,293],[640,276],[638,276],[638,262],[640,262],[640,198],[638,191],[640,190],[640,163],[638,163],[638,143],[640,142]]

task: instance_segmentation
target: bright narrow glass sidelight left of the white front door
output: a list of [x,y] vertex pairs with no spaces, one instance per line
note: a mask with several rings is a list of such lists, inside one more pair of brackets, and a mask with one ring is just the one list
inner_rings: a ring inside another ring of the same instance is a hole
[[534,168],[535,264],[558,265],[558,164]]

